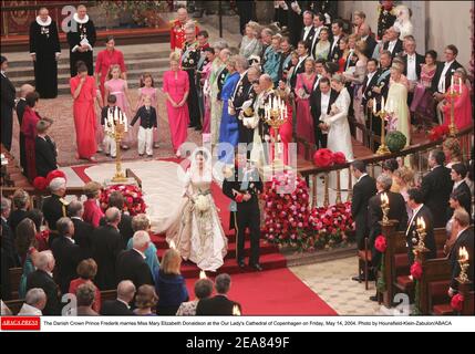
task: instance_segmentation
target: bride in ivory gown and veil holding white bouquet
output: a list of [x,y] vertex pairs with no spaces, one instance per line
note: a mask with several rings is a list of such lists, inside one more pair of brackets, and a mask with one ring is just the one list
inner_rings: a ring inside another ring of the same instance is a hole
[[224,263],[228,240],[211,196],[210,156],[198,149],[185,175],[185,192],[176,217],[166,231],[168,243],[175,243],[183,259],[199,269],[215,272]]

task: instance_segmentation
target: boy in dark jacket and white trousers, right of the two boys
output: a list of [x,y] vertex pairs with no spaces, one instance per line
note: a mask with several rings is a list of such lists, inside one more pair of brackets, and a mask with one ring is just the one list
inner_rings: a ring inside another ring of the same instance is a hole
[[137,134],[138,156],[143,156],[144,153],[146,153],[147,157],[152,157],[154,154],[154,131],[157,129],[157,114],[155,107],[152,106],[151,96],[144,97],[144,105],[138,108],[135,117],[131,122],[131,126],[133,126],[138,118],[141,119]]

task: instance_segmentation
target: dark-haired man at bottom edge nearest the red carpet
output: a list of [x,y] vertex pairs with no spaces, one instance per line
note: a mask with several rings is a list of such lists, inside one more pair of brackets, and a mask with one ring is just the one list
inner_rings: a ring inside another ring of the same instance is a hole
[[217,295],[210,299],[203,299],[198,302],[196,308],[196,315],[215,315],[215,316],[230,316],[242,314],[242,310],[239,303],[228,299],[227,293],[231,287],[231,278],[229,274],[223,273],[216,277],[215,289]]

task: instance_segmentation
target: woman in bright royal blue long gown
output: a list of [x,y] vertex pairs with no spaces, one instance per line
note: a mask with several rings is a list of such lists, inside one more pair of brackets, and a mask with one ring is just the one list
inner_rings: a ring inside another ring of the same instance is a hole
[[[236,112],[233,107],[233,104],[229,105],[229,102],[233,101],[236,85],[239,82],[240,75],[236,71],[235,58],[228,59],[228,61],[226,62],[226,67],[228,70],[228,76],[226,77],[226,82],[221,91],[223,116],[221,116],[221,125],[219,127],[219,144],[227,143],[227,144],[230,144],[233,147],[235,147],[239,142],[238,121],[237,121]],[[223,158],[224,156],[225,156],[225,153],[221,153],[220,157]],[[229,156],[229,158],[231,162],[233,157]]]

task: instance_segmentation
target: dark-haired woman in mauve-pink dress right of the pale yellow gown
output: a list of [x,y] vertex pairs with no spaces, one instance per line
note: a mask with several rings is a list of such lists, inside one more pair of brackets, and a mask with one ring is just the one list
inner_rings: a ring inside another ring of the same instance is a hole
[[437,53],[435,51],[425,53],[425,64],[422,64],[421,67],[421,80],[414,87],[411,103],[411,112],[426,119],[432,119],[434,116],[434,98],[430,88],[437,69],[436,60]]

